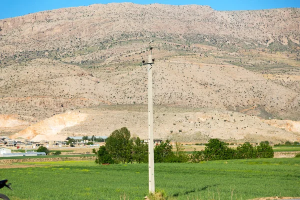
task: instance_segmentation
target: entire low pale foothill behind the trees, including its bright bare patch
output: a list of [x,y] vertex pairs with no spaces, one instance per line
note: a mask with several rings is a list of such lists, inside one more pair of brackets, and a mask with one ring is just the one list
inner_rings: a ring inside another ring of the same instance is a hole
[[[173,141],[206,141],[220,138],[227,141],[300,140],[300,121],[261,120],[239,112],[211,108],[188,109],[163,107],[154,110],[154,135]],[[54,115],[12,135],[31,141],[64,140],[69,135],[107,135],[123,126],[132,135],[147,138],[146,105],[111,105],[78,109]],[[186,111],[184,111],[186,110]],[[9,123],[12,124],[13,120]],[[18,123],[17,123],[18,124]]]

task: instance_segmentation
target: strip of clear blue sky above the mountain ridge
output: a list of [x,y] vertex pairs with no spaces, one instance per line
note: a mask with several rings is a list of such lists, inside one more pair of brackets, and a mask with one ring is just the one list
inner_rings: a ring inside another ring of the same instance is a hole
[[94,3],[133,2],[139,4],[199,4],[216,10],[248,10],[281,7],[300,7],[300,0],[1,0],[0,19],[61,7],[90,5]]

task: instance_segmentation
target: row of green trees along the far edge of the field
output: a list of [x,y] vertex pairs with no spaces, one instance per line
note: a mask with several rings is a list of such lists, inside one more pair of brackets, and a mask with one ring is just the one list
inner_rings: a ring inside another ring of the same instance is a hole
[[[147,163],[148,144],[138,137],[130,137],[126,127],[114,130],[106,139],[106,144],[98,150],[93,149],[97,155],[96,163]],[[154,162],[200,162],[206,160],[271,158],[274,156],[272,147],[268,142],[261,142],[252,146],[249,142],[237,146],[236,149],[219,139],[210,139],[205,149],[186,153],[182,144],[176,142],[175,148],[169,140],[161,142],[154,147]]]

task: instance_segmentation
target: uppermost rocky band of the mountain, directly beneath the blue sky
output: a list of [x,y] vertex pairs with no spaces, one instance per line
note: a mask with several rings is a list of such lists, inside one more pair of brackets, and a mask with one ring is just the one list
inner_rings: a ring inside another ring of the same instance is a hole
[[1,51],[78,48],[152,36],[190,42],[299,44],[300,9],[217,11],[200,5],[93,4],[0,20]]

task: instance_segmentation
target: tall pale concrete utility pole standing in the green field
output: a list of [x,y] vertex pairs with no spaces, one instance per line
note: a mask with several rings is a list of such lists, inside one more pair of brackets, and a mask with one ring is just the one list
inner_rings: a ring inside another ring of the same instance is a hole
[[152,91],[152,66],[154,59],[152,59],[152,47],[150,47],[151,54],[148,56],[147,72],[148,72],[148,166],[149,166],[149,193],[154,193],[154,147],[153,147],[153,91]]

